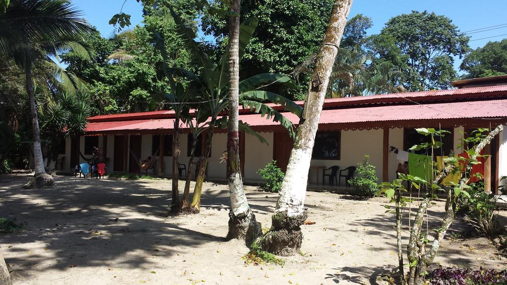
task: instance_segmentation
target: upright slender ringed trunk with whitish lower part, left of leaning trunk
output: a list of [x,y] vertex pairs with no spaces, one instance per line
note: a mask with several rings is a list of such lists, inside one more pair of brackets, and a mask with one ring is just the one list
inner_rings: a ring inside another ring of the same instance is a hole
[[229,121],[227,128],[227,175],[231,197],[228,239],[247,244],[262,234],[261,224],[248,205],[239,161],[239,12],[240,0],[231,0],[229,16]]

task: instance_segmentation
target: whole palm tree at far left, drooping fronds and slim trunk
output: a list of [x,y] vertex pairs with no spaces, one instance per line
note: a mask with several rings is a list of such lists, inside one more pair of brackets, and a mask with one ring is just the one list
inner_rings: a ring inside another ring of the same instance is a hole
[[56,80],[66,82],[64,84],[67,87],[73,85],[74,78],[54,62],[48,61],[48,57],[57,56],[68,49],[86,50],[75,39],[80,39],[82,32],[91,30],[81,18],[81,13],[63,0],[13,0],[6,13],[0,15],[0,54],[12,58],[25,73],[32,116],[35,160],[33,182],[37,187],[50,186],[53,180],[44,168],[34,92],[34,70],[50,70]]

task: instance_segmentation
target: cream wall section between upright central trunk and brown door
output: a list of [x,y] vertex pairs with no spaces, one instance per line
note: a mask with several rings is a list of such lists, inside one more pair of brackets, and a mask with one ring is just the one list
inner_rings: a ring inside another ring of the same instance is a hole
[[264,168],[273,160],[273,133],[262,132],[269,145],[263,144],[251,134],[245,134],[245,181],[262,180],[257,170]]

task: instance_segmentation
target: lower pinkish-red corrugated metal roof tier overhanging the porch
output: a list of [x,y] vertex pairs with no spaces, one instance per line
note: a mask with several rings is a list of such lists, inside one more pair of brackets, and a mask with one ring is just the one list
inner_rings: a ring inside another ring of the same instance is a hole
[[[299,123],[299,117],[292,113],[283,113],[293,124]],[[381,105],[381,106],[359,106],[356,108],[323,110],[320,116],[320,126],[336,125],[337,128],[355,128],[357,123],[377,122],[401,122],[401,121],[428,121],[447,119],[477,119],[479,118],[503,118],[498,123],[507,122],[507,99],[447,102],[432,104],[410,104],[410,105]],[[239,120],[249,124],[256,130],[267,130],[266,127],[279,126],[278,122],[267,120],[260,114],[241,114]],[[119,122],[98,122],[89,123],[86,127],[87,134],[112,134],[112,133],[168,133],[173,129],[174,120],[134,120]],[[399,123],[392,123],[392,126]],[[372,124],[376,127],[378,125]],[[362,124],[361,128],[369,127]],[[186,126],[182,126],[186,129]]]

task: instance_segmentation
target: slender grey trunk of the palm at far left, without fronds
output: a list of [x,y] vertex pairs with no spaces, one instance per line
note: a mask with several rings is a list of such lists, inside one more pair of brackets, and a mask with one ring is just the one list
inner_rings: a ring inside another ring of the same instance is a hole
[[32,115],[32,145],[33,145],[33,158],[35,162],[35,178],[28,183],[27,187],[44,188],[53,185],[53,177],[46,173],[44,169],[44,158],[42,156],[41,148],[41,130],[39,129],[39,116],[37,114],[37,101],[35,101],[35,92],[33,90],[31,62],[26,63],[25,67],[26,76],[26,92],[30,101],[30,111]]

